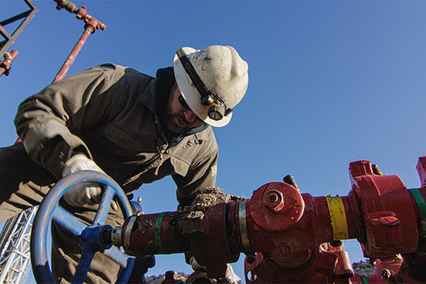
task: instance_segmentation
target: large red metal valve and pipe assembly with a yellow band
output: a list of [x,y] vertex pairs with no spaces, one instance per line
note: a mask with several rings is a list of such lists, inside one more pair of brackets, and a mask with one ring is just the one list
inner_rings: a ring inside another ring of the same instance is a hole
[[[239,253],[256,252],[246,269],[268,283],[291,283],[302,275],[306,283],[351,277],[347,253],[322,247],[341,239],[358,239],[366,257],[413,253],[420,213],[400,178],[374,174],[365,160],[351,163],[349,172],[352,190],[344,197],[312,197],[272,182],[250,200],[224,202],[226,195],[208,195],[213,202],[200,209],[202,195],[190,211],[129,217],[122,229],[124,249],[136,256],[192,251],[212,278],[223,277],[226,263],[237,261]],[[425,189],[418,191],[426,197]]]

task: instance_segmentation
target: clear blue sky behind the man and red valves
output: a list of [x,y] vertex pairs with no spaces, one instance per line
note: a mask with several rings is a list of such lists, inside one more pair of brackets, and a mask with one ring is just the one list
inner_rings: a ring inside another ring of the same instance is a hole
[[[26,11],[1,0],[0,20]],[[18,104],[53,81],[84,24],[53,1],[11,49],[0,77],[0,146],[16,140]],[[426,1],[74,1],[106,23],[89,36],[68,75],[103,62],[148,75],[183,46],[231,45],[249,63],[249,89],[231,123],[214,129],[217,186],[251,197],[267,182],[295,176],[301,192],[345,196],[348,166],[371,160],[385,174],[420,187],[424,146]],[[11,32],[13,25],[6,26]],[[138,190],[145,212],[174,211],[171,179]],[[352,261],[363,259],[346,241]],[[148,274],[191,272],[182,255],[158,256]],[[244,277],[244,256],[234,265]]]

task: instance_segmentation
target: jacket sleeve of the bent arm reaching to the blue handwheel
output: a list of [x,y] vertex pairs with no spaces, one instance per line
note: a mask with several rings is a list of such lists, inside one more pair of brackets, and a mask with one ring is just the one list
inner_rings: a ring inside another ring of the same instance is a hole
[[50,84],[26,99],[15,118],[16,131],[30,158],[62,178],[65,162],[72,151],[89,149],[74,133],[99,123],[109,104],[102,94],[124,72],[112,72],[114,65],[93,67]]

